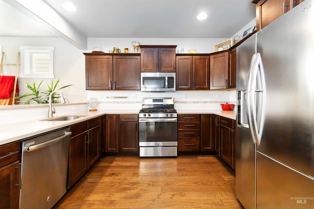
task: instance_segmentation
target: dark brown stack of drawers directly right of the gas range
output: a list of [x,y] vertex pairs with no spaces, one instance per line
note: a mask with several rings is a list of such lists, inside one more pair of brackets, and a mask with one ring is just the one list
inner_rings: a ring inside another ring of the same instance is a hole
[[200,151],[200,115],[178,115],[178,151]]

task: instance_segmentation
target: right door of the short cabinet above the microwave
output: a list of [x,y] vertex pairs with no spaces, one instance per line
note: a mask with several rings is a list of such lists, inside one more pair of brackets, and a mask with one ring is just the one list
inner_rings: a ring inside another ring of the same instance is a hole
[[176,48],[158,48],[158,71],[176,71]]

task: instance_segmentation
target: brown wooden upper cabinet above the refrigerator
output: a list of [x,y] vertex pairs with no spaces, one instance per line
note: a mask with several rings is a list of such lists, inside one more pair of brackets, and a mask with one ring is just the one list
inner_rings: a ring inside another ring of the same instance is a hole
[[256,3],[257,31],[273,22],[304,0],[253,0]]

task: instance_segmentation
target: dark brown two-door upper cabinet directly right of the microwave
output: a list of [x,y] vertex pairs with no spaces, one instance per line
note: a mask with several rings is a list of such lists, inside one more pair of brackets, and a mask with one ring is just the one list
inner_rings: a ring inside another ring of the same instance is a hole
[[209,56],[176,57],[176,90],[209,90]]

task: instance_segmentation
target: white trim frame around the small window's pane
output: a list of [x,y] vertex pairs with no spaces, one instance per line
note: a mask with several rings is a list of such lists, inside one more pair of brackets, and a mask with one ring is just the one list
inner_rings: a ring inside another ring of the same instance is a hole
[[[53,46],[20,46],[21,52],[21,78],[54,78],[53,74]],[[31,54],[32,53],[49,53],[50,67],[48,73],[32,73]]]

